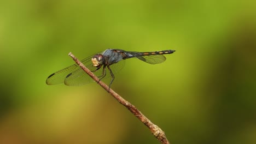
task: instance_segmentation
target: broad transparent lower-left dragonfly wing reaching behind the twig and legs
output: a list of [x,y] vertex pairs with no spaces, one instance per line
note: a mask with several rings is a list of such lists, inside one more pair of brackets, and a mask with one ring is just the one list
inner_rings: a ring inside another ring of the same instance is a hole
[[[125,61],[122,60],[122,61],[119,61],[118,63],[110,65],[110,69],[112,70],[113,74],[117,74],[118,71],[120,71],[124,67],[124,63],[125,63]],[[87,67],[91,71],[96,70],[96,67],[94,67],[92,65],[92,63],[90,63],[89,65],[85,65],[85,67]],[[98,69],[97,71],[94,71],[93,73],[97,77],[101,78],[100,76],[103,75],[103,66],[102,66],[102,68]],[[110,76],[111,75],[106,68],[106,76],[103,77],[103,79],[101,79],[101,80],[104,80]],[[85,71],[81,68],[68,74],[64,81],[65,85],[68,85],[68,86],[80,86],[80,85],[85,85],[90,82],[94,82],[94,79],[92,79],[88,74],[86,74]]]

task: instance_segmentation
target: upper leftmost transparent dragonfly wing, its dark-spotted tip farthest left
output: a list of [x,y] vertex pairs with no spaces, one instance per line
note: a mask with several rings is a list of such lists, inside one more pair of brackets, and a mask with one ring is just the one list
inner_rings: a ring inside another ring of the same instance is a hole
[[[91,58],[93,56],[94,55],[92,55],[88,58],[85,58],[81,62],[85,65],[89,65],[89,63],[91,63]],[[47,85],[57,85],[57,84],[63,83],[68,74],[72,73],[73,71],[77,71],[79,69],[80,69],[80,67],[78,64],[73,64],[67,68],[59,70],[59,71],[51,74],[50,76],[48,76],[48,78],[46,79],[46,83],[47,83]]]

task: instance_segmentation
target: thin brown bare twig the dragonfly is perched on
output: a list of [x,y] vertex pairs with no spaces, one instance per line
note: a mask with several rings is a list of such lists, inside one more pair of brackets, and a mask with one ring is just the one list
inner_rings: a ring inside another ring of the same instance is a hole
[[[68,54],[69,56],[71,56],[73,58],[73,60],[75,61],[75,63],[77,63],[80,68],[82,68],[88,75],[91,76],[92,79],[94,79],[95,81],[98,81],[98,84],[103,87],[107,92],[109,90],[109,87],[102,81],[99,81],[100,79],[98,79],[98,77],[96,75],[94,75],[94,73],[92,73],[88,68],[86,68],[84,66],[83,63],[81,63],[71,52],[69,52]],[[161,143],[164,144],[170,144],[170,142],[168,142],[166,136],[165,136],[165,132],[162,131],[158,125],[153,124],[152,122],[149,121],[149,119],[144,116],[141,111],[139,111],[134,105],[132,105],[131,103],[129,103],[127,100],[125,100],[124,98],[122,98],[119,94],[117,94],[116,92],[114,92],[111,88],[109,93],[119,101],[119,103],[121,103],[122,105],[124,105],[128,110],[130,110],[133,115],[135,115],[142,123],[144,123],[151,131],[151,133],[156,137],[156,139],[158,139]]]

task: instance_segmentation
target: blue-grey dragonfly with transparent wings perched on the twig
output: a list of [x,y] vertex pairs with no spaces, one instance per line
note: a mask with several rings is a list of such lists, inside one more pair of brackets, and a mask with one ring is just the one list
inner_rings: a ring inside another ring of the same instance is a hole
[[[114,74],[118,73],[118,71],[124,67],[125,59],[137,58],[149,64],[159,64],[166,60],[164,55],[171,54],[173,52],[175,52],[175,50],[135,52],[120,49],[107,49],[101,53],[91,55],[83,59],[81,62],[85,65],[85,67],[92,71],[92,73],[99,77],[100,80],[111,76],[112,79],[109,83],[110,89],[110,86],[115,79]],[[106,73],[106,69],[109,70],[110,75]],[[88,74],[86,74],[78,64],[73,64],[67,68],[61,69],[49,75],[46,79],[47,85],[65,83],[67,86],[80,86],[90,82],[94,82],[94,80]]]

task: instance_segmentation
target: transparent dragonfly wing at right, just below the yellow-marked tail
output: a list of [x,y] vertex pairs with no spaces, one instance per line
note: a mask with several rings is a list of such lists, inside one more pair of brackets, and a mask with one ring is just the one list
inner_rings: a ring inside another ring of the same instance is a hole
[[136,58],[140,59],[141,61],[144,61],[149,64],[158,64],[162,63],[166,60],[166,57],[163,55],[147,55],[147,56],[142,56],[139,55],[136,52],[129,52],[131,55],[135,56]]

